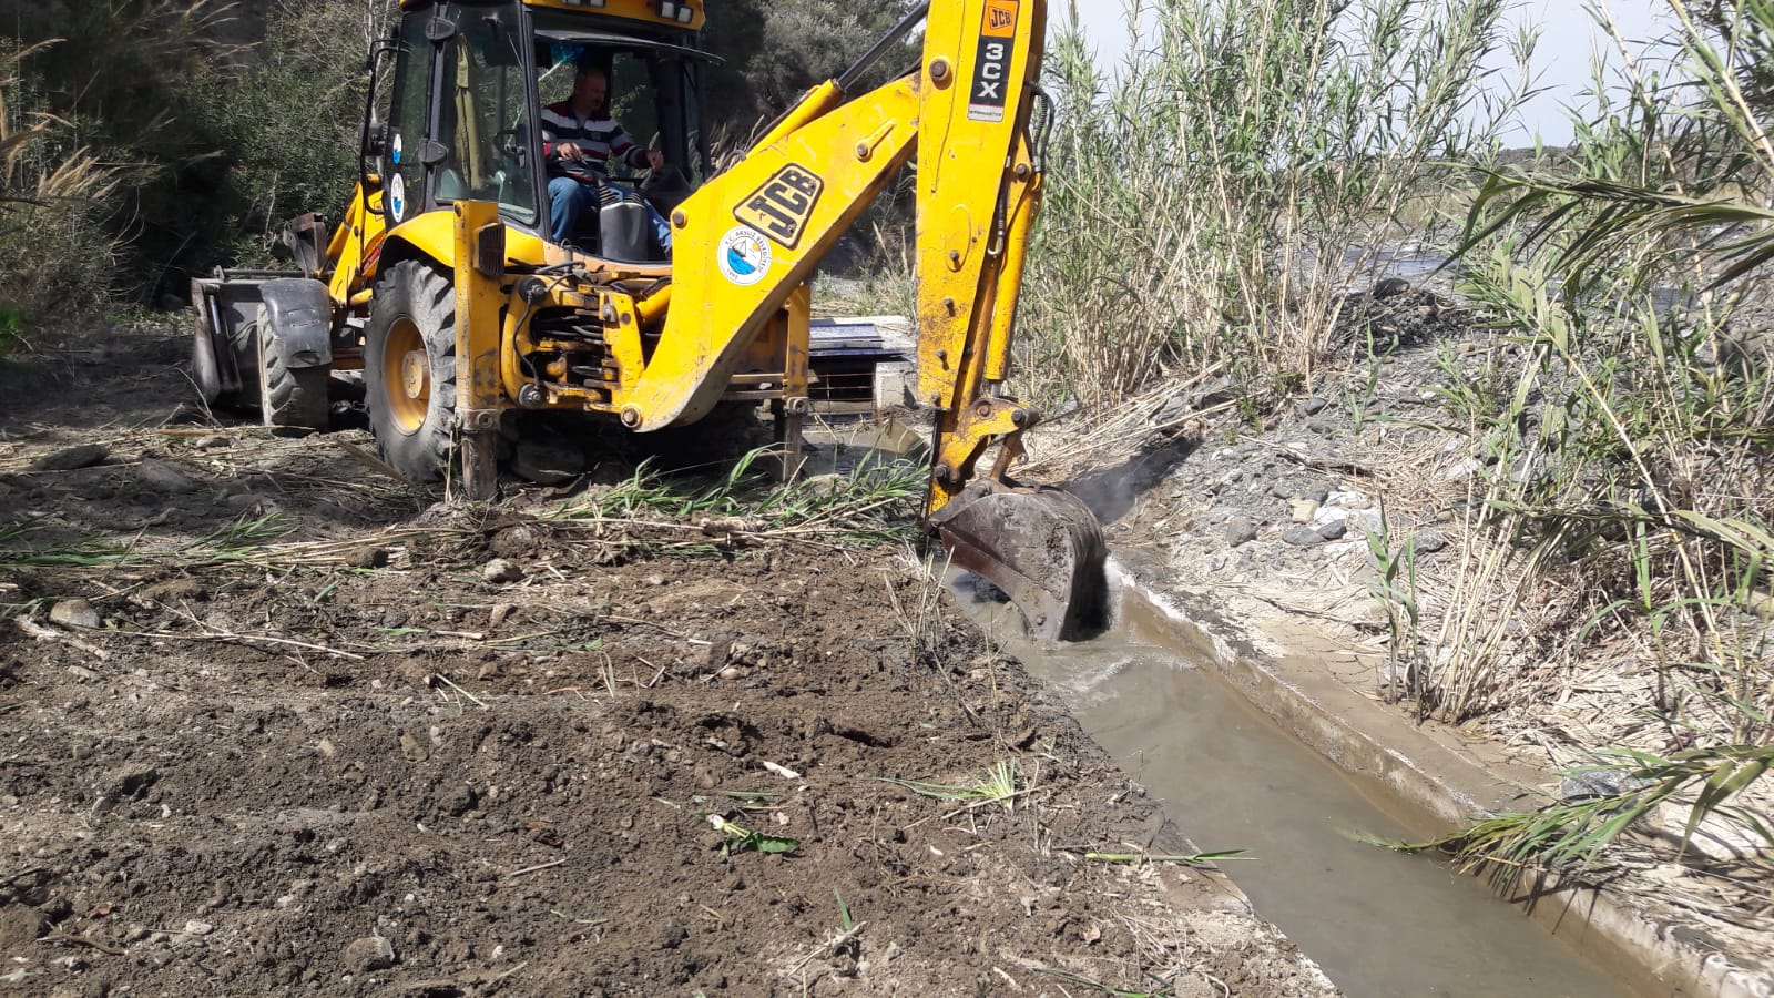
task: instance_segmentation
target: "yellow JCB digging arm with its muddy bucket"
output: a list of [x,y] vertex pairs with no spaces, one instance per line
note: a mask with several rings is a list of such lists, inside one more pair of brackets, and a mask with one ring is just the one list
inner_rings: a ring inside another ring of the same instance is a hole
[[[915,71],[848,91],[924,20]],[[757,330],[882,186],[917,156],[919,400],[937,414],[926,515],[954,561],[1043,638],[1102,616],[1103,543],[1070,494],[1006,478],[1040,414],[1002,394],[1029,233],[1041,201],[1031,119],[1045,0],[921,4],[859,66],[809,91],[671,218],[672,305],[623,423],[690,423],[720,400]],[[976,465],[992,444],[999,460]]]

